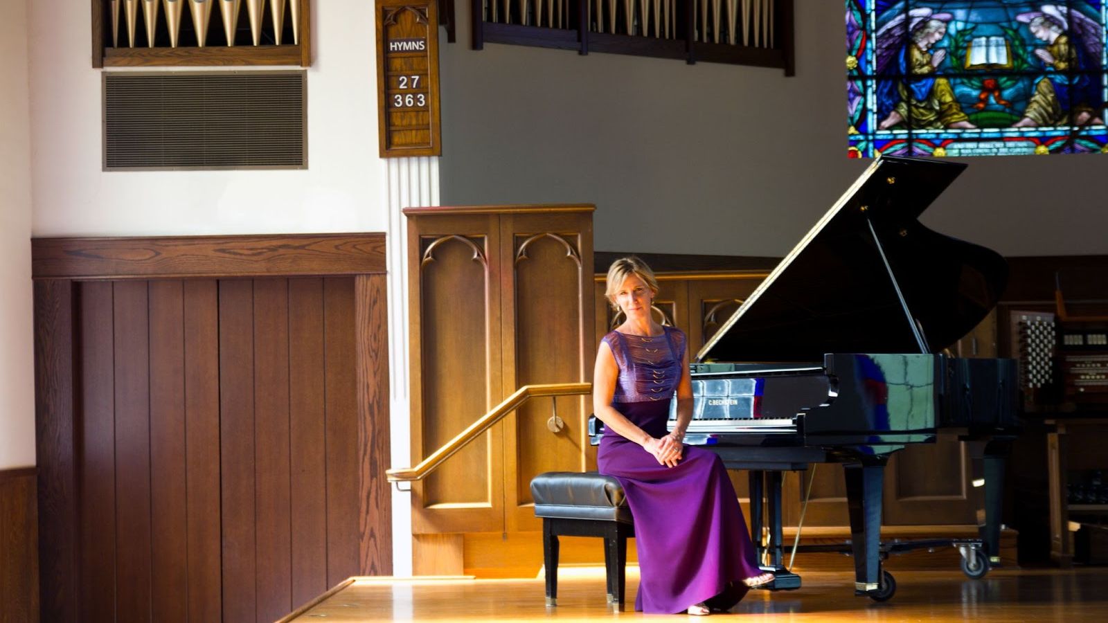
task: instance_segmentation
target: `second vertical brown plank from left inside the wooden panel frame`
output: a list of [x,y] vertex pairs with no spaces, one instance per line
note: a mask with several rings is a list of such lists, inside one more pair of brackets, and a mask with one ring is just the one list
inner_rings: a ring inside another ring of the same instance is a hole
[[151,619],[150,320],[146,282],[113,284],[115,615]]

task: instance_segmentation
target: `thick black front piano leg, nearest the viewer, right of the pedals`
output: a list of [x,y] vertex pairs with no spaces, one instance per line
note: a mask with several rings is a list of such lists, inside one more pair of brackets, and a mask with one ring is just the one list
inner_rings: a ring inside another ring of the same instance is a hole
[[878,591],[881,582],[881,496],[884,466],[847,464],[847,503],[854,553],[854,594]]

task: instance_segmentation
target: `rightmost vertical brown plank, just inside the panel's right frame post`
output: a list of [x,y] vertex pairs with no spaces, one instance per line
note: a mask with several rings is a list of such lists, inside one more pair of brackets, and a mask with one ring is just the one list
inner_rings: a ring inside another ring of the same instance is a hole
[[358,406],[352,277],[324,279],[327,405],[327,585],[357,575]]

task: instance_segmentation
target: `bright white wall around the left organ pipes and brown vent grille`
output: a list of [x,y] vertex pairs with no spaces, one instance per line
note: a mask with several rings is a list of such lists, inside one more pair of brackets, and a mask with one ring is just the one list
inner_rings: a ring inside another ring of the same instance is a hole
[[312,4],[308,170],[105,173],[89,7],[28,2],[34,235],[384,231],[373,3]]

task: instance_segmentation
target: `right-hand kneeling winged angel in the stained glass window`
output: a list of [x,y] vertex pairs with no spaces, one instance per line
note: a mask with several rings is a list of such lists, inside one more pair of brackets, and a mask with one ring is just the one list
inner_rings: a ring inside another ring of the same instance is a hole
[[1080,11],[1058,4],[1043,4],[1038,11],[1020,13],[1016,19],[1047,43],[1046,48],[1036,48],[1035,55],[1046,64],[1048,73],[1036,82],[1023,119],[1013,126],[1102,125],[1099,81],[1080,73],[1099,67],[1101,25]]

